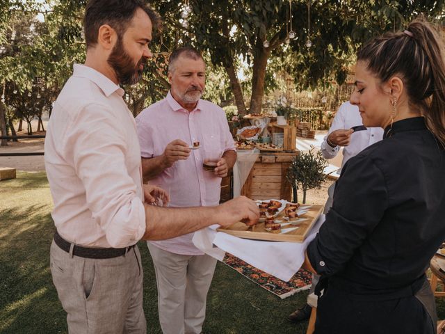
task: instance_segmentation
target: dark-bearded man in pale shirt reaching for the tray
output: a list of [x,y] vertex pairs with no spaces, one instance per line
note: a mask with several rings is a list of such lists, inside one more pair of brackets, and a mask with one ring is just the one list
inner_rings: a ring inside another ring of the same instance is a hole
[[140,239],[258,219],[247,198],[218,207],[150,205],[163,192],[143,185],[136,122],[120,84],[140,79],[158,23],[142,0],[88,1],[86,61],[74,65],[49,120],[44,159],[57,229],[51,274],[70,334],[147,332]]

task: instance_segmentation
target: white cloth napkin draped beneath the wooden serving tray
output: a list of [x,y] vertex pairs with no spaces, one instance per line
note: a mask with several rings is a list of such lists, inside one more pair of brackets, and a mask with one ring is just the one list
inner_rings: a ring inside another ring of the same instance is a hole
[[301,244],[242,239],[217,232],[218,225],[195,232],[193,244],[218,260],[223,260],[224,253],[229,252],[280,280],[289,281],[305,261],[305,250],[324,221],[325,215],[322,214]]

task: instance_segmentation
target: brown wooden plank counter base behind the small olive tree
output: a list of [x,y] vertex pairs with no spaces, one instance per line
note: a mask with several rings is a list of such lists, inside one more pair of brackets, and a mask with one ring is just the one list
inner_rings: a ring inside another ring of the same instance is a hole
[[291,201],[291,185],[286,180],[286,173],[298,154],[298,151],[261,153],[250,170],[241,195],[254,200],[275,198]]

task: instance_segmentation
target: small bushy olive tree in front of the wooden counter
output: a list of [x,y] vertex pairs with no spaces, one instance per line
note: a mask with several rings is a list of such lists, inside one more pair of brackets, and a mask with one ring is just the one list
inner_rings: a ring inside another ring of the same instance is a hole
[[320,151],[315,154],[312,150],[298,154],[287,170],[286,178],[290,182],[293,191],[293,202],[298,202],[298,189],[303,191],[303,204],[306,203],[306,192],[309,189],[320,189],[326,178],[323,173],[327,166],[327,160]]

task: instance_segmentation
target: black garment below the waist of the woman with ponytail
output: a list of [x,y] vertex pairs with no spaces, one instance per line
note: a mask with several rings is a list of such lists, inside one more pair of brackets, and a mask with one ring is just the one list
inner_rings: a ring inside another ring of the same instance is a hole
[[315,334],[435,334],[415,296],[387,301],[356,300],[335,287],[318,299]]

